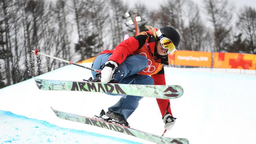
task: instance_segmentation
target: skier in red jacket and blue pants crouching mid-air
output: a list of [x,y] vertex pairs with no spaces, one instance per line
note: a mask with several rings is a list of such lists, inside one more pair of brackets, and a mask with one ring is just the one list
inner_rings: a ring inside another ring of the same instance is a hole
[[[102,83],[123,83],[138,85],[165,85],[163,64],[168,65],[168,54],[178,49],[179,33],[170,26],[160,29],[146,26],[135,37],[122,41],[114,50],[104,50],[93,62],[93,81]],[[150,77],[151,76],[151,77]],[[139,105],[143,97],[124,95],[101,118],[130,127],[127,118]],[[171,129],[175,119],[171,112],[169,99],[156,99],[163,116],[165,129]],[[166,111],[167,110],[167,111]]]

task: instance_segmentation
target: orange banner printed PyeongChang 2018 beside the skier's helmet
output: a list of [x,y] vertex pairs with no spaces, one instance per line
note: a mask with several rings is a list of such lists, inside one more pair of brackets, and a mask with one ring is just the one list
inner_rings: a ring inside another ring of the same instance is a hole
[[211,67],[211,52],[175,51],[174,65]]

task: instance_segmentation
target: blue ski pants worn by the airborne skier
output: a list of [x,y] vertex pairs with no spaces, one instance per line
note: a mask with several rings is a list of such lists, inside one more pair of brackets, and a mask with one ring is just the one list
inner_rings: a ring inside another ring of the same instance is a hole
[[[98,55],[92,65],[92,68],[101,70],[100,66],[106,63],[111,56],[111,53]],[[148,65],[148,59],[142,55],[130,55],[118,66],[115,71],[114,80],[123,84],[138,84],[138,85],[154,85],[154,80],[147,75],[138,74]],[[93,78],[96,72],[92,71]],[[143,97],[123,95],[120,100],[108,110],[119,113],[127,118],[135,111],[139,105],[139,101]]]

